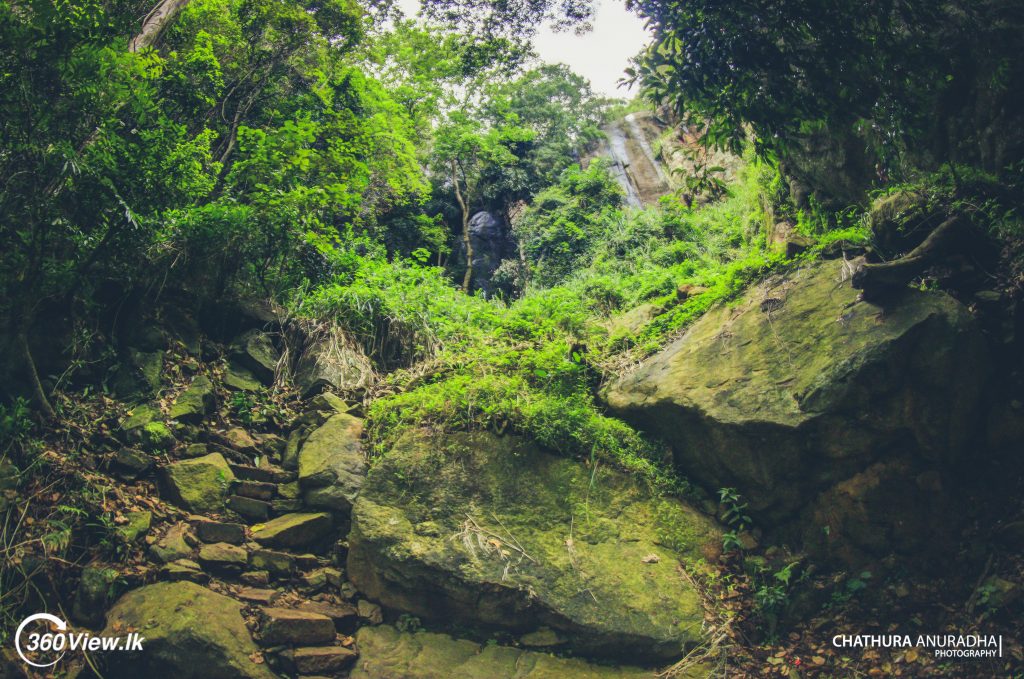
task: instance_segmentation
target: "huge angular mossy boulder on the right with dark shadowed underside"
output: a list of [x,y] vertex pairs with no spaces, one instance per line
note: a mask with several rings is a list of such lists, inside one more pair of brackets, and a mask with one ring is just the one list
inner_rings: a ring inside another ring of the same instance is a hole
[[736,486],[772,520],[880,459],[958,459],[988,372],[970,313],[911,289],[882,308],[849,273],[826,261],[752,287],[605,399],[666,439],[684,474]]

